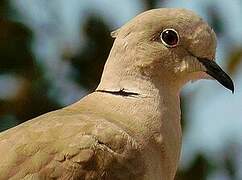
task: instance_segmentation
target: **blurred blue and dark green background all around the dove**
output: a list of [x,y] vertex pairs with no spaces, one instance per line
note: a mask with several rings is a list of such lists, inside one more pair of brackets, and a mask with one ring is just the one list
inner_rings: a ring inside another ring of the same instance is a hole
[[93,91],[110,32],[158,7],[192,9],[209,22],[218,36],[217,62],[235,81],[235,94],[206,80],[184,88],[176,179],[241,180],[241,0],[1,0],[0,131]]

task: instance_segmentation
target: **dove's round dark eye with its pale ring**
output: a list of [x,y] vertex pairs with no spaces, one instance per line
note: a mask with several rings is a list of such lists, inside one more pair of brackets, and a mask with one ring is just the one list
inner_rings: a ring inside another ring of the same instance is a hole
[[174,29],[165,29],[162,31],[160,39],[161,42],[169,48],[177,46],[179,42],[178,33]]

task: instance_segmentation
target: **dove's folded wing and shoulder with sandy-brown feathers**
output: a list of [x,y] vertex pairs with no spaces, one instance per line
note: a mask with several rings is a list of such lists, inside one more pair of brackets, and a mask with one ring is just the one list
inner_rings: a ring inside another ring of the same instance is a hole
[[58,110],[0,134],[0,179],[134,179],[138,143],[106,118]]

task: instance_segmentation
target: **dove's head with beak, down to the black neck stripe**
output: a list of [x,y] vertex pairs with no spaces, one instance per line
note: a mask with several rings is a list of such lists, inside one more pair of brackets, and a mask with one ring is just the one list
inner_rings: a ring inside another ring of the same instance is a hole
[[98,89],[180,91],[188,81],[214,78],[234,90],[230,77],[214,61],[214,31],[190,10],[149,10],[111,35],[115,42]]

